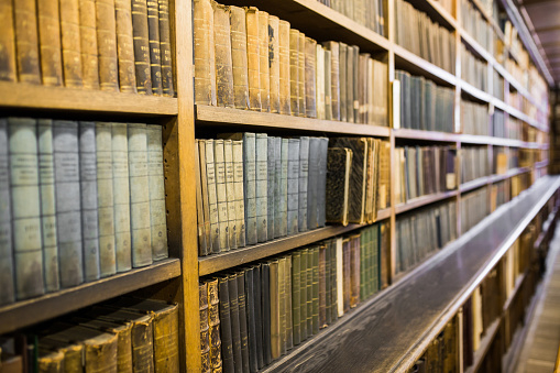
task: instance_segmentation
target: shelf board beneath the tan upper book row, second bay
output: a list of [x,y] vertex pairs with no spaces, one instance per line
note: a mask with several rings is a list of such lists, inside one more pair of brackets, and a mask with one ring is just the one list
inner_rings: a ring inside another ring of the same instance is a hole
[[283,129],[294,131],[315,131],[364,136],[388,138],[388,127],[354,124],[333,120],[282,116],[270,112],[196,106],[196,121],[207,125],[234,124],[261,129]]

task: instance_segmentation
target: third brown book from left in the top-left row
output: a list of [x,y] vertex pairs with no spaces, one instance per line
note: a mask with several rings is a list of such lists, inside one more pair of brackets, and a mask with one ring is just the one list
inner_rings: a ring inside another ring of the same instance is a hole
[[[62,1],[62,3],[64,4],[64,1]],[[58,12],[58,1],[37,0],[37,18],[41,72],[43,73],[41,78],[43,85],[62,86],[63,64],[61,55],[61,15]]]

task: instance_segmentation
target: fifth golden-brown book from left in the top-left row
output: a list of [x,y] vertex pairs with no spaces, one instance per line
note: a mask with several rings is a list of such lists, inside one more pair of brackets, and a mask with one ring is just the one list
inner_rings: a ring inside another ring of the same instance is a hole
[[99,89],[96,0],[79,0],[79,36],[84,88]]

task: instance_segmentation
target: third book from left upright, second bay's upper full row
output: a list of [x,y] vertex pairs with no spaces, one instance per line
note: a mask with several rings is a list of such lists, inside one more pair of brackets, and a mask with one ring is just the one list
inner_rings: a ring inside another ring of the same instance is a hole
[[233,103],[237,109],[249,108],[248,50],[245,11],[230,7],[231,61]]

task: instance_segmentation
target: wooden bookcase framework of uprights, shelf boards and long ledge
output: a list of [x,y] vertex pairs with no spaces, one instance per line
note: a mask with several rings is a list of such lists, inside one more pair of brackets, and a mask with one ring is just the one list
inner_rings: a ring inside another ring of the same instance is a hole
[[[438,1],[435,0],[409,1],[417,9],[428,13],[432,20],[438,21],[454,33],[457,47],[455,74],[451,74],[436,66],[435,64],[415,55],[395,43],[395,23],[399,20],[397,19],[398,14],[394,13],[393,0],[384,1],[387,10],[385,19],[385,35],[387,35],[387,37],[373,32],[372,30],[359,24],[348,17],[342,15],[317,0],[262,2],[251,0],[223,0],[220,2],[237,6],[257,6],[260,9],[279,17],[282,20],[289,21],[292,28],[305,32],[306,35],[310,37],[320,41],[336,39],[337,41],[344,42],[347,44],[358,45],[362,51],[382,56],[388,64],[389,85],[395,80],[395,69],[404,69],[432,79],[438,85],[453,88],[455,90],[455,129],[460,125],[460,119],[458,116],[460,110],[459,102],[464,94],[470,98],[485,102],[492,108],[503,110],[506,114],[506,120],[507,116],[512,116],[541,132],[548,132],[548,123],[531,118],[523,111],[506,103],[507,97],[505,97],[504,100],[497,99],[493,95],[473,87],[461,78],[460,46],[464,43],[469,45],[471,50],[474,50],[475,53],[486,62],[488,70],[494,68],[504,78],[504,90],[506,96],[512,87],[518,91],[521,97],[528,99],[528,101],[537,108],[538,112],[546,114],[547,108],[542,107],[540,102],[537,102],[536,99],[531,97],[530,92],[523,87],[521,84],[517,81],[492,54],[485,51],[461,28],[459,21],[460,7],[458,1],[453,1],[454,11],[452,13],[449,13]],[[472,3],[479,9],[483,18],[485,18],[493,26],[497,37],[504,41],[505,36],[499,30],[499,26],[495,23],[494,19],[485,12],[483,7],[480,4],[480,1],[472,0]],[[227,129],[228,132],[246,130],[252,132],[271,132],[285,135],[363,135],[388,140],[392,150],[395,149],[395,143],[399,141],[414,143],[419,142],[422,144],[449,143],[459,152],[462,144],[480,144],[487,145],[490,149],[488,164],[492,164],[493,146],[504,146],[506,149],[548,149],[547,143],[525,142],[496,136],[479,136],[463,133],[443,133],[410,129],[393,130],[392,125],[378,127],[354,124],[330,120],[195,105],[193,95],[193,6],[190,1],[171,0],[169,7],[169,13],[172,14],[171,34],[175,89],[177,92],[176,98],[125,95],[119,92],[70,88],[53,88],[0,81],[0,108],[9,113],[13,112],[14,114],[33,116],[37,118],[43,116],[73,119],[90,118],[92,120],[111,120],[112,118],[119,121],[135,121],[142,119],[150,123],[161,123],[163,125],[165,142],[164,166],[166,176],[165,188],[169,259],[157,262],[147,267],[133,270],[102,278],[100,281],[85,283],[77,287],[47,294],[39,298],[17,301],[14,304],[0,307],[0,333],[19,330],[37,322],[62,316],[69,311],[97,304],[111,297],[138,290],[140,294],[150,294],[151,296],[174,300],[179,304],[179,355],[182,370],[197,372],[200,371],[198,283],[201,276],[211,275],[219,271],[231,270],[239,265],[279,253],[285,253],[301,245],[348,233],[364,227],[363,224],[349,224],[347,227],[327,226],[321,229],[311,230],[262,244],[199,257],[196,242],[197,211],[194,177],[196,132],[216,132],[218,130]],[[508,55],[512,58],[517,59],[509,51]],[[488,87],[492,87],[491,83],[492,74],[488,75]],[[389,97],[389,108],[392,108],[392,95],[389,92],[387,92],[387,95]],[[388,113],[391,124],[393,122],[391,109],[388,109]],[[396,205],[394,196],[396,167],[393,153],[394,152],[392,152],[391,156],[391,190],[393,191],[391,196],[391,207],[380,210],[377,212],[376,221],[389,221],[389,260],[392,262],[389,277],[394,281],[394,283],[387,289],[382,290],[375,297],[366,300],[356,310],[351,311],[348,317],[339,320],[334,326],[322,330],[319,336],[306,341],[298,349],[293,350],[289,354],[274,362],[273,365],[267,369],[268,371],[282,370],[287,366],[296,366],[298,362],[305,363],[305,356],[311,356],[312,353],[321,351],[321,348],[326,348],[325,351],[332,350],[333,347],[329,347],[328,343],[340,338],[344,333],[344,328],[352,327],[352,325],[358,322],[358,316],[362,319],[360,322],[372,322],[374,328],[375,326],[380,326],[382,320],[388,318],[385,307],[392,301],[400,299],[402,296],[404,297],[403,300],[395,303],[395,305],[392,306],[392,310],[400,317],[399,320],[404,320],[403,318],[405,315],[409,315],[407,311],[407,301],[414,300],[410,298],[414,296],[414,289],[418,289],[418,294],[429,297],[432,293],[430,293],[430,289],[426,288],[424,284],[430,284],[436,281],[436,274],[443,272],[443,263],[458,260],[460,257],[459,255],[465,255],[463,259],[469,260],[469,263],[471,263],[469,268],[470,272],[460,273],[460,277],[459,275],[458,277],[453,277],[453,281],[455,281],[455,283],[453,283],[454,287],[452,284],[449,284],[449,287],[447,287],[446,290],[447,298],[443,299],[443,296],[441,296],[435,300],[438,301],[439,308],[435,307],[433,310],[430,311],[432,317],[430,321],[426,321],[425,319],[420,320],[416,317],[406,321],[406,325],[392,323],[394,329],[384,329],[385,334],[364,337],[364,345],[367,345],[369,349],[380,350],[382,353],[385,353],[383,359],[375,360],[376,367],[398,366],[406,369],[407,364],[414,360],[413,356],[417,358],[426,347],[426,343],[430,340],[430,337],[433,337],[436,330],[439,330],[438,326],[442,322],[442,320],[446,318],[449,319],[452,311],[459,308],[461,297],[466,294],[469,289],[472,290],[472,288],[482,281],[484,272],[487,273],[492,266],[491,264],[495,264],[497,259],[499,259],[503,254],[503,250],[499,248],[505,246],[505,244],[497,241],[509,240],[509,237],[515,235],[513,232],[514,230],[518,230],[518,226],[501,229],[499,234],[502,235],[499,235],[499,238],[492,237],[490,233],[480,233],[482,235],[476,235],[477,239],[472,241],[473,243],[465,242],[466,239],[464,239],[464,232],[460,232],[459,230],[458,233],[460,238],[450,243],[444,250],[429,256],[429,259],[427,259],[424,263],[411,270],[410,273],[395,276],[394,251],[396,246],[395,221],[397,216],[426,207],[430,204],[453,199],[458,202],[457,226],[460,228],[461,211],[459,202],[461,201],[462,194],[482,187],[492,186],[498,182],[505,180],[506,183],[510,183],[509,180],[517,175],[534,173],[537,169],[542,169],[548,166],[548,160],[543,160],[535,163],[530,167],[510,168],[507,173],[502,175],[485,176],[459,185],[454,190],[422,196],[409,200],[406,204]],[[457,174],[460,175],[460,173],[461,167],[459,163]],[[547,185],[548,188],[541,186],[541,189],[537,189],[545,191],[538,199],[537,197],[534,197],[537,191],[534,190],[535,188],[531,188],[529,191],[530,196],[525,196],[523,201],[514,204],[514,206],[510,207],[509,210],[516,217],[519,216],[521,211],[525,213],[520,206],[523,205],[528,207],[529,205],[525,202],[526,200],[531,200],[536,204],[530,209],[530,211],[535,211],[531,213],[535,215],[538,212],[537,207],[541,207],[548,198],[550,198],[551,190],[558,188],[559,183],[554,179],[549,182]],[[529,208],[527,208],[527,210],[529,210]],[[491,215],[491,217],[494,220],[496,220],[494,215]],[[518,218],[519,220],[523,220],[520,217]],[[527,220],[527,218],[524,219],[525,220],[523,221]],[[491,222],[486,221],[484,227],[484,232],[486,232],[492,230],[493,226]],[[472,232],[466,232],[466,234],[472,235]],[[486,248],[486,243],[490,241],[497,243],[494,246]],[[481,252],[481,250],[486,251]],[[473,253],[470,253],[471,251]],[[476,253],[481,255],[476,256]],[[472,281],[472,278],[475,279]],[[460,281],[469,281],[470,283],[468,287],[465,287],[464,283],[460,283]],[[415,287],[407,289],[407,286],[410,284]],[[426,307],[428,306],[433,305],[427,303]],[[406,326],[409,326],[410,328]],[[409,330],[406,333],[395,332],[395,329],[400,330],[400,328]],[[497,325],[495,325],[494,328],[495,330],[493,330],[496,332]],[[413,338],[415,332],[418,333]],[[384,339],[383,336],[387,339]],[[492,339],[492,337],[488,338]],[[394,352],[389,352],[380,347],[378,343],[382,340],[384,341],[384,344],[386,344],[386,341],[389,341],[391,343],[387,345],[399,345],[402,349],[396,349]],[[355,344],[355,342],[350,343],[347,347],[353,344]],[[400,360],[405,356],[404,352],[411,352],[413,354],[408,360],[404,361]],[[365,356],[360,354],[360,349],[356,349],[355,353],[355,360],[358,362],[363,361],[364,364],[366,364],[364,360]],[[484,353],[481,352],[481,354],[483,356]],[[337,354],[331,355],[330,361],[336,359],[336,356]],[[378,354],[375,354],[374,356],[377,359]],[[482,359],[482,356],[479,359]],[[322,353],[318,354],[317,358],[310,359],[309,363],[314,361],[317,362],[316,359],[318,358],[322,359],[326,356]],[[349,356],[340,356],[340,359],[339,364],[343,361],[348,361]],[[327,361],[328,360],[323,360],[320,364],[323,364]],[[363,367],[371,366],[373,365],[363,365]]]

